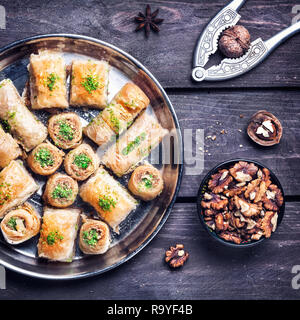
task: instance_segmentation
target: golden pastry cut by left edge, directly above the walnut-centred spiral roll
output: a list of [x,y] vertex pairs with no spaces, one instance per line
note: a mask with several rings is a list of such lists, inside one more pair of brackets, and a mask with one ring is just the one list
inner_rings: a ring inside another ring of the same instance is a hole
[[12,160],[0,172],[0,218],[9,209],[25,202],[39,186],[25,169],[21,161]]

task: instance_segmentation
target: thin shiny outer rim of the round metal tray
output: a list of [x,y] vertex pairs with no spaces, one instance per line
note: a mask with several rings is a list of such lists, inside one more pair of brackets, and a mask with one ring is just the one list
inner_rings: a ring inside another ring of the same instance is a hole
[[[183,159],[183,139],[182,139],[182,133],[181,133],[181,128],[179,125],[179,121],[177,118],[177,115],[175,113],[174,107],[168,97],[168,95],[166,94],[165,90],[163,89],[162,85],[159,83],[159,81],[154,77],[154,75],[141,63],[139,62],[136,58],[134,58],[132,55],[130,55],[129,53],[123,51],[122,49],[118,48],[115,45],[112,45],[108,42],[105,42],[103,40],[99,40],[93,37],[89,37],[89,36],[84,36],[84,35],[78,35],[78,34],[70,34],[70,33],[50,33],[50,34],[38,34],[38,35],[34,35],[34,36],[30,36],[30,37],[26,37],[24,39],[21,40],[17,40],[14,42],[11,42],[3,47],[0,48],[0,55],[2,55],[5,51],[10,50],[14,47],[18,47],[20,45],[26,44],[27,42],[33,41],[33,40],[41,40],[41,39],[45,39],[45,38],[69,38],[69,39],[79,39],[79,40],[86,40],[86,41],[91,41],[91,42],[95,42],[98,44],[101,44],[103,46],[109,47],[110,49],[113,49],[117,52],[119,52],[120,54],[122,54],[123,56],[125,56],[128,60],[130,60],[131,62],[133,62],[138,68],[140,68],[141,70],[143,70],[148,76],[149,78],[154,82],[154,84],[158,87],[158,89],[160,90],[162,96],[164,97],[164,99],[166,100],[166,103],[168,105],[168,108],[172,114],[173,117],[173,121],[175,124],[175,127],[177,129],[177,133],[178,133],[178,143],[180,144],[180,150],[181,150],[181,159]],[[107,271],[113,270],[117,267],[119,267],[120,265],[124,264],[125,262],[129,261],[131,258],[133,258],[136,254],[138,254],[141,250],[143,250],[154,238],[155,236],[158,234],[158,232],[161,230],[161,228],[163,227],[163,225],[165,224],[165,222],[167,221],[171,210],[174,206],[174,203],[176,201],[176,198],[178,196],[178,192],[180,189],[180,185],[181,185],[181,181],[182,181],[182,176],[183,176],[183,167],[184,164],[178,164],[178,180],[177,180],[177,184],[175,187],[175,191],[172,197],[172,200],[169,204],[169,206],[166,208],[165,213],[163,215],[163,218],[161,219],[160,223],[158,224],[158,226],[156,227],[156,229],[152,232],[152,234],[134,251],[132,251],[130,254],[128,254],[125,258],[123,258],[122,260],[120,260],[119,262],[104,268],[103,270],[97,270],[97,271],[93,271],[93,272],[86,272],[86,273],[82,273],[82,274],[77,274],[77,275],[63,275],[63,276],[54,276],[54,275],[49,275],[46,273],[39,273],[36,271],[29,271],[26,269],[23,269],[21,267],[17,267],[9,262],[3,261],[3,259],[0,258],[0,265],[2,265],[5,268],[8,268],[9,270],[12,270],[14,272],[20,273],[22,275],[28,276],[28,277],[32,277],[32,278],[38,278],[38,279],[46,279],[46,280],[75,280],[75,279],[83,279],[83,278],[89,278],[89,277],[93,277],[96,275],[100,275],[103,274]]]

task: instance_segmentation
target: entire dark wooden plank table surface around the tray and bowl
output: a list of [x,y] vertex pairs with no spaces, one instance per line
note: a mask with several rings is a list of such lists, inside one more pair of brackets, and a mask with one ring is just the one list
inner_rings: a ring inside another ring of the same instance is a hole
[[[135,33],[133,17],[149,3],[160,9],[159,34]],[[143,63],[166,89],[181,129],[205,129],[205,168],[184,175],[179,197],[156,238],[126,264],[103,275],[66,282],[30,279],[7,271],[0,299],[299,299],[291,270],[300,265],[300,35],[263,64],[230,81],[191,81],[192,53],[206,23],[226,0],[5,0],[6,29],[0,46],[35,34],[74,33],[114,44]],[[252,39],[268,39],[291,24],[298,0],[251,0],[240,10]],[[283,138],[259,148],[245,128],[257,110],[279,117]],[[241,118],[240,114],[244,117]],[[227,134],[220,131],[226,129]],[[242,129],[242,132],[239,131]],[[242,145],[243,147],[240,147]],[[232,250],[210,239],[198,223],[195,198],[204,174],[223,160],[255,159],[270,167],[286,193],[286,213],[268,241]],[[184,243],[188,263],[178,271],[163,262],[165,250]]]

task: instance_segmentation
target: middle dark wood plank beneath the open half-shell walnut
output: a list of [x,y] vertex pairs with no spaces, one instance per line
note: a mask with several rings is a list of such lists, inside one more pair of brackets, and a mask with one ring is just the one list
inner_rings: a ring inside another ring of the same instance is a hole
[[[180,196],[196,196],[201,180],[212,167],[238,157],[262,162],[278,176],[286,195],[300,195],[299,90],[203,90],[197,95],[172,93],[170,99],[183,133],[185,129],[194,129],[195,135],[197,129],[204,129],[205,137],[216,135],[215,141],[204,140],[204,150],[207,150],[204,152],[204,170],[196,175],[184,175]],[[283,137],[277,146],[260,147],[248,138],[248,120],[262,109],[278,116],[283,125]],[[228,133],[221,134],[223,129]],[[187,143],[185,151],[190,151]],[[186,166],[186,173],[187,170]]]

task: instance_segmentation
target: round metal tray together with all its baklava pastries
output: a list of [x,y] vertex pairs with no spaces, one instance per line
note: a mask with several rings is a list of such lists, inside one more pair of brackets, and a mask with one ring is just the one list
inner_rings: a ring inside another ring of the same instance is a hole
[[160,230],[181,180],[164,90],[84,36],[21,40],[0,62],[0,264],[74,279],[127,261]]

